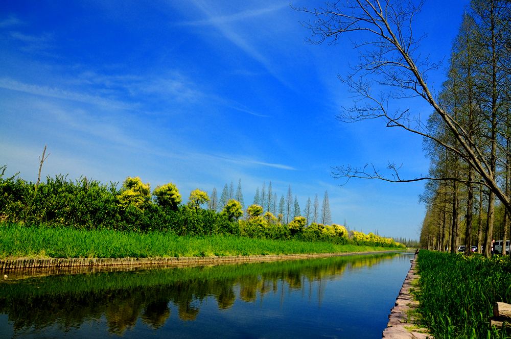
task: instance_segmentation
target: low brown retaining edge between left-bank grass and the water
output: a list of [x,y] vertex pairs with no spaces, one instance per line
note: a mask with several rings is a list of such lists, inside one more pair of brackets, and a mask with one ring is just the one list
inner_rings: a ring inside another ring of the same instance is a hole
[[39,270],[73,267],[123,267],[123,266],[194,266],[201,264],[263,262],[296,259],[326,258],[333,256],[393,253],[396,251],[350,252],[350,253],[310,253],[246,256],[207,256],[207,257],[165,257],[165,258],[50,258],[50,259],[3,259],[0,272],[13,270]]

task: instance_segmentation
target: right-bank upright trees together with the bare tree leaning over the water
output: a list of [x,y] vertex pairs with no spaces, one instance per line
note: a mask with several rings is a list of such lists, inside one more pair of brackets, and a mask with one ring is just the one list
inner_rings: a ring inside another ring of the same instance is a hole
[[[511,3],[472,0],[453,46],[447,81],[438,94],[428,86],[427,74],[442,63],[430,62],[429,53],[421,50],[424,35],[414,36],[413,20],[422,4],[347,0],[297,9],[314,16],[304,22],[312,32],[312,43],[339,43],[345,34],[361,38],[352,39],[362,50],[360,62],[351,74],[339,76],[353,94],[354,105],[338,118],[343,122],[381,119],[386,127],[420,135],[432,160],[429,176],[412,179],[403,178],[401,166],[395,163],[389,163],[386,171],[373,164],[336,166],[332,174],[346,180],[429,180],[423,197],[428,210],[423,245],[440,250],[447,246],[454,252],[461,242],[482,243],[489,256],[492,237],[508,236],[511,215]],[[411,98],[415,107],[417,100],[424,100],[432,108],[427,123],[406,107]],[[505,210],[503,234],[494,234],[496,200]],[[470,246],[466,250],[469,254]]]

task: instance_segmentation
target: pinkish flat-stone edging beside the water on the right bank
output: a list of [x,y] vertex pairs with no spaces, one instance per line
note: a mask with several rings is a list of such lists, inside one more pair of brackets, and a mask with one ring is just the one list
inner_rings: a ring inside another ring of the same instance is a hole
[[396,304],[390,310],[387,328],[383,331],[382,338],[385,339],[433,339],[425,328],[420,328],[415,323],[414,310],[419,307],[419,302],[413,300],[411,290],[417,290],[418,286],[412,286],[414,281],[419,279],[417,274],[416,258],[412,260],[410,271],[403,282]]

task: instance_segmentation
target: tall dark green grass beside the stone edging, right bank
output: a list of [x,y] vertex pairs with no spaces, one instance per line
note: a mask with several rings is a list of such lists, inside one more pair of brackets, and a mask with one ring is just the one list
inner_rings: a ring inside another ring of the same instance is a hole
[[439,338],[509,338],[489,327],[493,304],[511,302],[511,260],[421,251],[420,312]]

